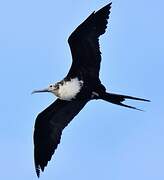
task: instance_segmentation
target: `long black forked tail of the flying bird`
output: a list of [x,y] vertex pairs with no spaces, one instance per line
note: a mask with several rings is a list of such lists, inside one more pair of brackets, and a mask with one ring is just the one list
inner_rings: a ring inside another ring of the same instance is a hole
[[147,100],[147,99],[137,98],[133,96],[126,96],[126,95],[121,95],[121,94],[113,94],[113,93],[104,93],[101,99],[108,101],[110,103],[113,103],[113,104],[117,104],[117,105],[124,106],[131,109],[136,109],[139,111],[142,111],[142,110],[133,106],[123,104],[122,102],[125,101],[126,99],[150,102],[150,100]]

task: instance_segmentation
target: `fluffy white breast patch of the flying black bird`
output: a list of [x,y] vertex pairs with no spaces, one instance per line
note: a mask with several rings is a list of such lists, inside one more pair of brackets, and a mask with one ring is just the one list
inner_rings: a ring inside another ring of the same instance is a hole
[[79,81],[78,78],[71,79],[64,82],[63,85],[59,85],[58,96],[62,100],[70,101],[75,98],[82,88],[83,81]]

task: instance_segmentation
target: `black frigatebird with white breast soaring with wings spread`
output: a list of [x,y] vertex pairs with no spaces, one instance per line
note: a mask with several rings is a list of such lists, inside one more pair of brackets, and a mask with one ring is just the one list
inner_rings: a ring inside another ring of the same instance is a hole
[[34,127],[34,161],[37,176],[44,171],[60,143],[63,129],[90,100],[107,102],[137,109],[123,104],[126,99],[149,101],[142,98],[106,92],[99,78],[101,52],[99,37],[105,33],[111,4],[93,12],[68,38],[72,65],[66,77],[43,90],[51,92],[57,100],[36,118]]

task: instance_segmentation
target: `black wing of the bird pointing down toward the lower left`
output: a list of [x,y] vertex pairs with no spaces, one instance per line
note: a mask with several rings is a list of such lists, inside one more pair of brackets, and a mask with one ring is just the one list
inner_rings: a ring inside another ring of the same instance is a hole
[[60,143],[62,130],[80,112],[88,100],[57,99],[36,118],[34,130],[34,159],[37,176],[44,171]]

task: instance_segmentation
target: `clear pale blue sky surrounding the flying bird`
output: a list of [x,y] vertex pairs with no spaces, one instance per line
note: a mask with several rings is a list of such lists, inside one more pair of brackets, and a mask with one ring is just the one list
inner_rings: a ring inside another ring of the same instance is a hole
[[[0,179],[35,180],[33,127],[54,101],[31,91],[61,80],[67,38],[107,0],[0,1]],[[152,100],[134,111],[93,101],[64,130],[41,180],[164,179],[164,1],[114,0],[101,37],[101,79],[111,92]]]

